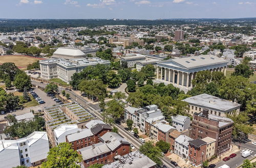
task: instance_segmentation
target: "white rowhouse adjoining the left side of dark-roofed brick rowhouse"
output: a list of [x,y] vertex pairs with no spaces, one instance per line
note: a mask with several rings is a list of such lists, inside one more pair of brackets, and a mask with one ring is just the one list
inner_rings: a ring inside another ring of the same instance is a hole
[[188,141],[193,140],[192,138],[186,135],[180,135],[175,139],[175,149],[174,153],[182,157],[183,159],[188,159]]

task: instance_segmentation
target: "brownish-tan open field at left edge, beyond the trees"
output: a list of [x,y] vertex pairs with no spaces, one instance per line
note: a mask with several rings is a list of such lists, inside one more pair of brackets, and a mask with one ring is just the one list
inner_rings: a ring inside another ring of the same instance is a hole
[[39,59],[26,57],[22,55],[4,55],[0,56],[0,64],[14,63],[20,69],[26,69],[29,64],[32,64]]

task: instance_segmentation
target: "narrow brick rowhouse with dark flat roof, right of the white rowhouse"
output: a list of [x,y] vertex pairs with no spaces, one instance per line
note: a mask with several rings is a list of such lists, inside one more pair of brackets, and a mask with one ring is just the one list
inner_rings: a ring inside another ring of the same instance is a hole
[[188,158],[190,163],[192,163],[194,166],[197,167],[202,165],[203,161],[205,160],[206,145],[206,142],[202,141],[201,139],[189,141]]

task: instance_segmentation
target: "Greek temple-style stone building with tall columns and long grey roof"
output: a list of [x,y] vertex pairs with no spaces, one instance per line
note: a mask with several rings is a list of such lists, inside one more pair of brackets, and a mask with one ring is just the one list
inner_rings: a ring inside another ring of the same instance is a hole
[[226,75],[227,63],[211,54],[162,61],[157,63],[155,82],[172,83],[175,87],[187,92],[193,88],[191,81],[196,77],[197,72],[221,71]]

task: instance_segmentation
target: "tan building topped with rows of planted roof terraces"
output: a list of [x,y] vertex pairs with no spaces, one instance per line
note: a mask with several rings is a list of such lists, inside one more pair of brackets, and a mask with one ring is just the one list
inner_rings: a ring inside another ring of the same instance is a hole
[[[86,124],[95,117],[76,102],[44,108],[46,131],[49,141],[56,146],[54,130],[61,124],[76,124],[78,128],[86,128]],[[75,128],[74,128],[75,129]]]

